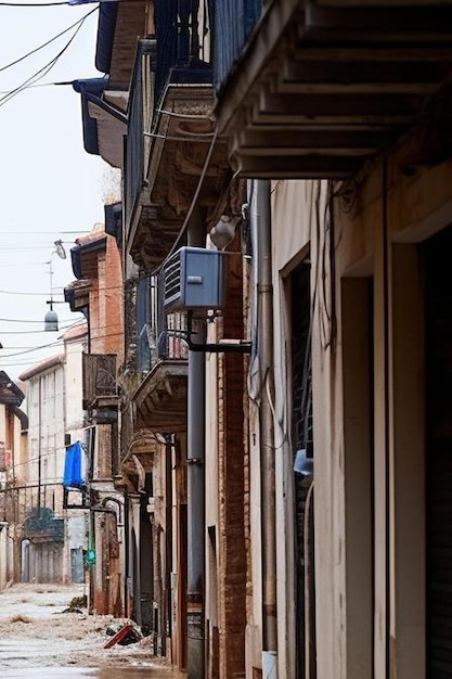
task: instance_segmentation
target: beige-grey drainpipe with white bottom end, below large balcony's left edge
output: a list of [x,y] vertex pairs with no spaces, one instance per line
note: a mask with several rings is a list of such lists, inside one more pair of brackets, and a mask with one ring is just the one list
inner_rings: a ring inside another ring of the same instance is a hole
[[273,312],[270,181],[251,188],[251,234],[256,260],[258,351],[262,384],[259,407],[262,536],[262,677],[277,677],[276,529],[273,413]]

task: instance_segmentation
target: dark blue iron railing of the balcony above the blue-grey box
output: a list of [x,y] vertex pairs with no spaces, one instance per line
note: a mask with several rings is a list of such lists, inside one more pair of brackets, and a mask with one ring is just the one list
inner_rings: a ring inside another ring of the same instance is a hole
[[126,239],[137,210],[152,217],[146,170],[168,86],[212,85],[212,0],[156,0],[155,36],[139,42],[125,142]]

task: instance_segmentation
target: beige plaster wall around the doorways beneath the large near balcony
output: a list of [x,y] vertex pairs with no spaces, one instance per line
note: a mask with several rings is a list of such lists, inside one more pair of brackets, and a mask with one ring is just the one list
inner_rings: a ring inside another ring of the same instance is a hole
[[[399,678],[424,677],[424,396],[419,338],[423,291],[418,253],[410,243],[425,240],[451,221],[452,191],[449,164],[418,169],[414,177],[406,177],[400,169],[400,158],[406,151],[398,150],[386,161],[385,168],[382,162],[375,164],[362,185],[354,187],[347,197],[335,198],[334,271],[331,260],[325,259],[330,246],[326,184],[273,184],[276,535],[279,601],[284,602],[279,615],[279,670],[283,677],[290,677],[294,666],[293,610],[285,605],[294,591],[293,536],[287,531],[293,502],[293,450],[285,280],[306,256],[309,243],[313,291],[318,676],[362,679],[371,671],[371,663],[375,677],[383,679],[389,658],[391,671]],[[343,291],[349,287],[347,281],[353,285],[353,279],[358,287],[347,300]],[[357,311],[353,315],[352,308],[353,304],[358,305],[356,309],[367,304],[362,290],[362,285],[369,285],[365,281],[372,281],[373,291],[369,357],[372,366],[371,384],[360,386],[362,375],[356,369],[354,376],[350,372],[350,346],[360,326],[362,343],[369,341],[369,328],[364,328],[364,320],[359,319]],[[354,303],[350,303],[353,298]],[[345,302],[351,304],[346,319]],[[334,337],[330,334],[332,318]],[[346,356],[343,342],[347,342]],[[344,366],[348,371],[347,392]],[[363,402],[357,401],[360,389],[363,397],[372,399],[372,423],[362,413]],[[358,406],[361,430],[357,428],[358,411],[353,414]],[[357,491],[357,478],[367,474],[364,462],[373,467],[369,488],[374,494],[373,517],[365,498]],[[363,540],[367,546],[372,541],[373,555],[370,549],[364,554],[360,552],[353,538],[357,511],[362,513]],[[358,575],[361,579],[357,588]],[[364,605],[358,592],[369,602],[371,587],[373,602]]]

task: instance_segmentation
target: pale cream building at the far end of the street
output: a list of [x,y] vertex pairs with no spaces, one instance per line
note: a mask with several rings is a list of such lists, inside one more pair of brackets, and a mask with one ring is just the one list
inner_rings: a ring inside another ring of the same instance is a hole
[[85,513],[64,503],[66,444],[82,439],[80,400],[85,324],[63,334],[64,350],[20,375],[26,385],[28,445],[26,473],[17,491],[21,521],[21,576],[38,582],[82,582],[86,548]]

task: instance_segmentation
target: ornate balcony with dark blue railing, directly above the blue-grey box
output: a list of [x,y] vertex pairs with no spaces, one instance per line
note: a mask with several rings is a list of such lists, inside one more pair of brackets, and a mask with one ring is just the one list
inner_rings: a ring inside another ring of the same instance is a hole
[[209,3],[203,3],[202,21],[198,4],[155,4],[155,39],[140,42],[130,88],[126,247],[150,273],[178,240],[194,196],[212,209],[230,174],[225,142],[215,136],[211,118]]

